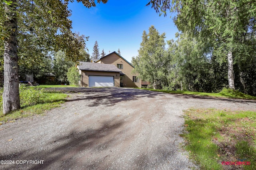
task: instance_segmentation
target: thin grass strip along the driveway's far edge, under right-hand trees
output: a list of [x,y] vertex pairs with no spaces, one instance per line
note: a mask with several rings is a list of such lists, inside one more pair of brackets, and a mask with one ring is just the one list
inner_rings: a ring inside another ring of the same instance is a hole
[[209,97],[218,97],[218,98],[233,98],[233,99],[248,99],[248,100],[256,100],[255,96],[250,96],[248,94],[243,94],[236,90],[226,89],[224,88],[219,93],[204,93],[204,92],[190,92],[190,91],[172,91],[172,90],[156,90],[156,89],[148,89],[148,88],[139,88],[144,90],[151,90],[156,92],[163,93],[172,93],[172,94],[188,94],[188,95],[198,95],[198,96],[209,96]]

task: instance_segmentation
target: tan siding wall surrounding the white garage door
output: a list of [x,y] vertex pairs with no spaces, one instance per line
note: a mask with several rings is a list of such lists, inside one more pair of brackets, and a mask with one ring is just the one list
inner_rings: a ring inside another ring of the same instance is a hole
[[82,87],[89,87],[89,76],[114,76],[114,86],[119,87],[120,81],[119,81],[119,72],[104,72],[104,71],[81,71],[81,86]]

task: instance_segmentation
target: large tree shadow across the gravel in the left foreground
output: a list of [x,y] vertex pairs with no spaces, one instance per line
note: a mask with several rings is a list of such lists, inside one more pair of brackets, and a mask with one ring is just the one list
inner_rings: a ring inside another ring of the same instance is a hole
[[[89,160],[79,162],[80,158],[76,157],[77,154],[85,150],[97,152],[112,147],[118,135],[125,133],[124,131],[116,133],[116,129],[122,129],[122,126],[124,126],[122,121],[105,121],[98,129],[73,130],[68,134],[55,136],[49,140],[48,147],[44,145],[42,146],[44,147],[43,150],[36,150],[32,154],[30,154],[30,150],[26,149],[19,153],[1,153],[1,160],[44,160],[43,164],[7,164],[6,167],[2,166],[1,169],[74,169],[76,166],[78,169],[82,166],[84,169],[98,169],[98,162],[103,162],[104,158],[97,158],[97,162]],[[83,156],[90,158],[90,155]],[[55,167],[51,167],[52,164]]]

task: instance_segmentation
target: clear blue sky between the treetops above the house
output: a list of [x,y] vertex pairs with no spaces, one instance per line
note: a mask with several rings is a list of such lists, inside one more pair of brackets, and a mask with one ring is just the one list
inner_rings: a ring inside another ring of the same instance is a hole
[[68,5],[72,10],[72,30],[89,37],[86,47],[90,55],[98,41],[100,53],[102,49],[108,54],[119,48],[121,56],[131,62],[138,55],[143,31],[148,32],[151,25],[160,34],[166,33],[166,41],[175,39],[178,32],[170,16],[159,16],[147,3],[148,0],[108,0],[88,9],[75,1]]

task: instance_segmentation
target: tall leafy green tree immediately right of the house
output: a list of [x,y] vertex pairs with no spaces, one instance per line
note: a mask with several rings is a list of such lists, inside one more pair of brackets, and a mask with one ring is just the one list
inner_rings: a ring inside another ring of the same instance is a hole
[[133,72],[139,73],[142,80],[152,84],[154,89],[167,85],[167,65],[170,57],[165,49],[165,33],[161,35],[154,26],[142,34],[139,55],[132,58]]

